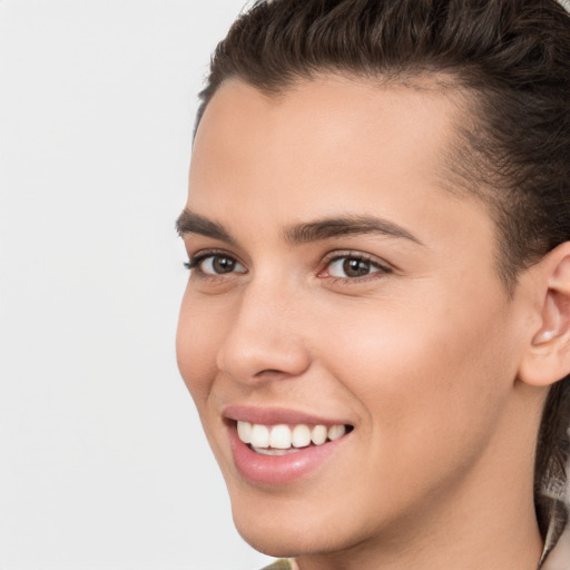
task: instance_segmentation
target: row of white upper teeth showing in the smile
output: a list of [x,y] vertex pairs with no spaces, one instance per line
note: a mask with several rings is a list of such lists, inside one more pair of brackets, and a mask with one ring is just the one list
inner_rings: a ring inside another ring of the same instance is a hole
[[250,443],[253,448],[273,448],[277,450],[288,450],[293,448],[306,448],[313,442],[315,445],[322,445],[327,439],[337,440],[346,429],[342,424],[314,425],[309,428],[305,424],[289,428],[286,424],[263,425],[259,423],[237,422],[237,434],[244,443]]

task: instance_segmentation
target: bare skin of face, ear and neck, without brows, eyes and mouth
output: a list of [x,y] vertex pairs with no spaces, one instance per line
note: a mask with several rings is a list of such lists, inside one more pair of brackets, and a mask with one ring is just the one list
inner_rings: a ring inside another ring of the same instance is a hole
[[[549,352],[567,334],[567,293],[550,292],[570,274],[568,248],[507,293],[489,212],[441,183],[458,109],[436,89],[323,76],[268,97],[233,80],[199,126],[186,207],[228,236],[186,228],[186,249],[238,265],[191,269],[178,364],[237,529],[302,570],[538,566],[533,448],[548,384],[568,367]],[[285,236],[347,215],[414,238]],[[331,263],[362,254],[360,278]],[[233,404],[354,430],[298,481],[256,485],[234,465]]]

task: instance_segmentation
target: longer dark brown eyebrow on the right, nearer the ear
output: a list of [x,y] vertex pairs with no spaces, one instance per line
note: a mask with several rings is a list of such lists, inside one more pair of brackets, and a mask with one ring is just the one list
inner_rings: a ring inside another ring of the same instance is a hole
[[285,238],[292,244],[305,244],[320,239],[362,234],[382,234],[389,237],[410,239],[415,244],[424,245],[402,226],[375,216],[324,218],[298,224],[285,229]]

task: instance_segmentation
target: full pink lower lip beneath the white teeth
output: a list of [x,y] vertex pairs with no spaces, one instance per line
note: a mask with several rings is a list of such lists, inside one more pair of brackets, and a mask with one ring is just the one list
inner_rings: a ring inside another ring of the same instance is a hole
[[301,479],[323,464],[345,438],[286,455],[264,455],[249,449],[238,438],[235,426],[229,429],[229,443],[237,470],[247,481],[259,485],[282,485]]

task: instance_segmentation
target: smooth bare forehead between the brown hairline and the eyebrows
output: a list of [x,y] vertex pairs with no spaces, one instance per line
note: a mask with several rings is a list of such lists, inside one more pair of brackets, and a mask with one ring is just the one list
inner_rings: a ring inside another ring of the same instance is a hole
[[197,130],[188,206],[226,226],[238,214],[256,230],[345,212],[428,234],[459,207],[463,217],[482,216],[487,232],[487,210],[449,191],[443,166],[456,144],[460,102],[428,82],[328,76],[265,95],[227,81]]

